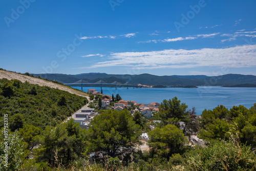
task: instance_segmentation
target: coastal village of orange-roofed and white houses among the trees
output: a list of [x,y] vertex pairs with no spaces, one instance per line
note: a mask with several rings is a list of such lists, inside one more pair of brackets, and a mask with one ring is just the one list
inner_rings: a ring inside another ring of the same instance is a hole
[[[94,96],[94,99],[92,99],[86,106],[84,106],[82,109],[80,109],[78,112],[72,115],[72,118],[75,120],[75,122],[79,123],[79,126],[82,129],[89,129],[90,122],[92,119],[99,115],[98,110],[95,109],[101,109],[101,110],[115,110],[115,111],[122,111],[122,110],[128,110],[131,115],[133,115],[135,112],[141,113],[145,118],[151,119],[154,114],[159,112],[158,107],[160,106],[160,103],[158,102],[152,102],[150,104],[141,104],[137,103],[133,100],[123,100],[120,99],[118,101],[109,96],[101,94],[100,92],[96,91],[95,89],[88,89],[88,94],[91,94]],[[117,96],[119,96],[117,94]],[[120,97],[120,96],[119,96]],[[120,97],[121,98],[121,97]],[[99,100],[101,101],[101,106],[99,106]],[[200,117],[199,115],[195,115],[197,118]],[[154,130],[155,126],[154,123],[160,122],[159,120],[152,120],[152,124],[150,124],[150,130]],[[183,129],[183,123],[180,122],[180,127]],[[141,135],[142,141],[148,141],[148,135],[147,133],[143,132]],[[196,135],[192,135],[189,137],[189,140],[191,144],[197,144],[204,146],[203,140],[199,139]],[[144,143],[145,148],[147,149],[146,143]],[[142,149],[143,150],[143,149]]]

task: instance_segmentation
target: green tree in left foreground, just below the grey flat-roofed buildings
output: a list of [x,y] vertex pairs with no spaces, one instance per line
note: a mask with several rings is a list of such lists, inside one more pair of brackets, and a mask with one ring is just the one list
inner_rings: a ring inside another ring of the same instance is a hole
[[36,149],[37,160],[54,163],[54,156],[61,159],[61,164],[68,164],[83,157],[85,151],[85,130],[74,119],[61,123],[55,128],[46,127],[40,138],[41,146]]

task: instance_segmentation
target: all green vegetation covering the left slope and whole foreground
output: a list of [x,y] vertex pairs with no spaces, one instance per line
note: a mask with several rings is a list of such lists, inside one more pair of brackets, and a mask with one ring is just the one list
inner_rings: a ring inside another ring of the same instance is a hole
[[[219,105],[205,110],[198,119],[195,108],[187,109],[174,97],[160,104],[159,113],[153,117],[159,120],[153,131],[148,129],[151,120],[127,110],[102,111],[94,117],[89,130],[84,130],[73,119],[62,121],[86,103],[86,98],[18,80],[2,79],[0,84],[1,118],[8,114],[10,128],[4,129],[1,121],[1,170],[256,168],[256,103],[250,109],[240,105],[228,110]],[[138,148],[142,130],[150,138],[149,151]],[[189,145],[190,135],[197,133],[206,147]]]

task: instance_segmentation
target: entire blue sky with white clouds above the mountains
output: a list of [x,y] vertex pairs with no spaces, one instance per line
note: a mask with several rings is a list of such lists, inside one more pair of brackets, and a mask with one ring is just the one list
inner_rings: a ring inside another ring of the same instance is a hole
[[256,1],[0,2],[0,68],[256,75]]

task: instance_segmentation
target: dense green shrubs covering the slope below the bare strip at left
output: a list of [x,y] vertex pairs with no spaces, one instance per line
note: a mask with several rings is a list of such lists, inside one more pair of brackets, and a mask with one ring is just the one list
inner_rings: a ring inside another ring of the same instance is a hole
[[[0,116],[8,114],[11,131],[34,125],[44,130],[47,125],[55,126],[88,102],[65,91],[40,87],[19,80],[0,79]],[[3,126],[1,120],[0,126]]]

